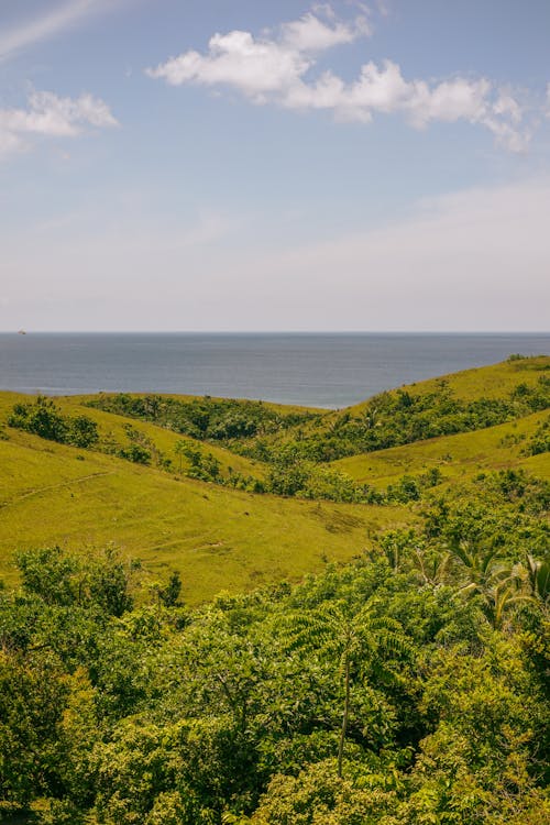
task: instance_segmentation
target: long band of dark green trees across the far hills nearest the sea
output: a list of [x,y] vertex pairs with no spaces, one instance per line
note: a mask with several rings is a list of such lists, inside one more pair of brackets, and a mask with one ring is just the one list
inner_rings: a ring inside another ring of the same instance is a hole
[[[234,452],[271,465],[274,491],[277,486],[304,490],[299,479],[310,475],[311,468],[299,462],[322,464],[348,455],[504,424],[547,409],[550,406],[550,378],[542,374],[536,384],[520,383],[506,397],[472,400],[457,398],[448,383],[441,380],[435,392],[413,394],[399,389],[381,393],[360,414],[344,410],[336,416],[282,414],[262,402],[208,396],[183,400],[121,393],[101,395],[89,404],[153,421],[199,440],[224,442]],[[548,450],[547,429],[539,433],[531,447],[538,452]],[[294,469],[289,473],[292,464]],[[294,474],[295,480],[287,477],[279,482],[282,469],[285,475]],[[364,501],[364,491],[356,490],[350,501]]]

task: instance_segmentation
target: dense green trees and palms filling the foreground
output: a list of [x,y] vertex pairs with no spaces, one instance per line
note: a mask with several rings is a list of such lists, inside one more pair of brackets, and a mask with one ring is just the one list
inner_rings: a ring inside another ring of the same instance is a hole
[[0,810],[543,825],[549,485],[480,476],[354,564],[190,609],[112,550],[0,590]]

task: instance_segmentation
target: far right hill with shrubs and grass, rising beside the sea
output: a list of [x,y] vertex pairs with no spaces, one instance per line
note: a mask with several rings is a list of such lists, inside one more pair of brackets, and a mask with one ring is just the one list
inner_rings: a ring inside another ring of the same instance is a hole
[[520,358],[380,393],[237,449],[277,460],[295,443],[300,458],[327,462],[505,424],[549,406],[550,356]]

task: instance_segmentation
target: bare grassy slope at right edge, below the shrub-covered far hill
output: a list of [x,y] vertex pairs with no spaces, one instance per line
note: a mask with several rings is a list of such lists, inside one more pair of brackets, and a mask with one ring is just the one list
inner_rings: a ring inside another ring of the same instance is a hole
[[386,487],[402,475],[420,475],[438,468],[444,480],[465,480],[479,472],[525,468],[539,477],[550,479],[550,454],[525,457],[521,451],[548,410],[517,421],[475,432],[442,436],[428,441],[392,447],[378,452],[352,455],[332,466],[359,482]]

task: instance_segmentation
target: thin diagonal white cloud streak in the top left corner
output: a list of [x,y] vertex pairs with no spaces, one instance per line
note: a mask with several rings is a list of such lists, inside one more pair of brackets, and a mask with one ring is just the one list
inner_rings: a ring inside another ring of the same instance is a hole
[[48,40],[82,23],[92,14],[112,10],[120,0],[68,0],[51,8],[42,15],[23,19],[8,31],[0,32],[0,62],[34,43]]

